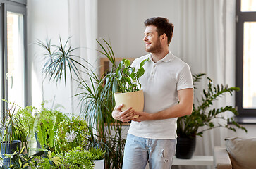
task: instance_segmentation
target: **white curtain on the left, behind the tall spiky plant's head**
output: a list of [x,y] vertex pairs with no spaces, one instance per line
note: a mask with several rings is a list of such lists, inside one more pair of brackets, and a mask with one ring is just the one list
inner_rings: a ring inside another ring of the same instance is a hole
[[[71,45],[79,47],[75,51],[75,55],[97,68],[97,0],[68,0],[68,33],[71,37]],[[80,63],[91,68],[83,60]],[[85,73],[83,80],[86,80]],[[80,92],[78,82],[71,80],[71,96],[78,94],[78,92]],[[78,115],[80,112],[78,97],[73,97],[71,102],[72,113]]]

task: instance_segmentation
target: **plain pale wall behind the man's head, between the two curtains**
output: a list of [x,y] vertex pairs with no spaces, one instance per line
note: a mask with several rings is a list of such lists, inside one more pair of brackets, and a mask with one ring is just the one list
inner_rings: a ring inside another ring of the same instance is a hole
[[[137,58],[145,53],[144,21],[154,16],[169,18],[174,24],[176,1],[169,0],[99,0],[98,3],[98,35],[110,39],[116,57]],[[178,10],[178,9],[176,9]],[[171,51],[176,53],[178,27],[174,28]]]

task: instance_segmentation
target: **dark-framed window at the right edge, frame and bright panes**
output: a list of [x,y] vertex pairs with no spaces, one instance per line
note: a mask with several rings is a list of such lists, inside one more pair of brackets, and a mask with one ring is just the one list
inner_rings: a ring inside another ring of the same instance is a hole
[[236,1],[236,94],[238,120],[256,123],[256,0]]

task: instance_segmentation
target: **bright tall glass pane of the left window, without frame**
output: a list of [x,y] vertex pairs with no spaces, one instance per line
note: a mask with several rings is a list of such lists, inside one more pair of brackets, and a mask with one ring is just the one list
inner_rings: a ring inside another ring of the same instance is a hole
[[25,104],[23,20],[23,14],[7,11],[7,99],[19,106]]

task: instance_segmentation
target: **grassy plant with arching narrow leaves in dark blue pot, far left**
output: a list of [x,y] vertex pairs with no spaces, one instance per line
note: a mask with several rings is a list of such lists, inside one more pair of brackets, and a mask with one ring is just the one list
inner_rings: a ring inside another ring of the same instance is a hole
[[[5,101],[5,100],[2,100]],[[20,149],[20,145],[24,145],[28,150],[27,136],[28,132],[25,130],[23,124],[16,118],[16,104],[8,103],[11,108],[6,108],[4,119],[1,119],[2,127],[0,134],[1,155],[3,159],[4,168],[9,168],[13,163],[10,154],[13,154],[16,149]]]

